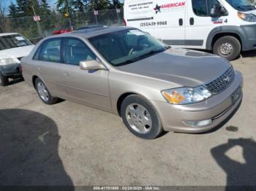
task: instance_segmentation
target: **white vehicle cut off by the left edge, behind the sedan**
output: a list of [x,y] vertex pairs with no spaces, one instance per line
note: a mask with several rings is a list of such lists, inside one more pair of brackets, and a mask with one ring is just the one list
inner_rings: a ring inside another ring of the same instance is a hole
[[9,78],[22,77],[20,59],[34,48],[29,39],[18,33],[0,34],[0,85],[8,85]]

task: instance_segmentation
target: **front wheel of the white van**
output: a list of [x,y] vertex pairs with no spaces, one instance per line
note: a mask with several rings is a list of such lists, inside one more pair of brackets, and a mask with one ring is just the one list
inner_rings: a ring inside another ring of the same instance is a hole
[[236,59],[241,51],[241,43],[234,36],[223,36],[214,43],[214,54],[229,61]]

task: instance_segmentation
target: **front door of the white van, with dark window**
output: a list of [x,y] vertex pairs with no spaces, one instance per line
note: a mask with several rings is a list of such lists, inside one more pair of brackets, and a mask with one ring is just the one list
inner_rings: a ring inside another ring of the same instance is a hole
[[188,1],[185,47],[205,49],[211,30],[229,23],[227,16],[211,17],[211,8],[219,3],[217,0]]

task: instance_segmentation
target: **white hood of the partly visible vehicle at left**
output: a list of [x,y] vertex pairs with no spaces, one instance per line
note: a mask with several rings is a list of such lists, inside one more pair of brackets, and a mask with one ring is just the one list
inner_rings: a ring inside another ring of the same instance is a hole
[[24,47],[15,47],[7,50],[0,50],[0,59],[2,58],[21,58],[26,55],[29,55],[31,50],[34,48],[34,45],[24,46]]

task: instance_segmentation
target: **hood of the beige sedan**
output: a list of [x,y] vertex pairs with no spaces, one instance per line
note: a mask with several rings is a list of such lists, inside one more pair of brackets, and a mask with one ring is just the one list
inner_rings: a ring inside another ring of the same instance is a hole
[[195,87],[222,75],[230,63],[217,55],[185,49],[169,49],[134,63],[118,66],[121,71]]

